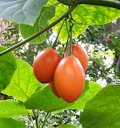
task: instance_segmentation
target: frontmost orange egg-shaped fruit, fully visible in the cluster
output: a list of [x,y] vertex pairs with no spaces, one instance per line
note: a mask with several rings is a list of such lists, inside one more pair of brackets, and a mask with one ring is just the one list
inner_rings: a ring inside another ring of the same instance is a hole
[[54,84],[58,94],[68,103],[81,95],[85,84],[85,72],[75,56],[63,58],[54,73]]

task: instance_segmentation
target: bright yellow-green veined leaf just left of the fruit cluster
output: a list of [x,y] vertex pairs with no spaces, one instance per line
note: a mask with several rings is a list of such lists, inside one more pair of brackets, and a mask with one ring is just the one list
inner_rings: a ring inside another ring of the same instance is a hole
[[41,84],[35,78],[32,67],[25,61],[17,60],[17,69],[12,80],[2,93],[25,101],[35,92],[37,87],[41,87]]

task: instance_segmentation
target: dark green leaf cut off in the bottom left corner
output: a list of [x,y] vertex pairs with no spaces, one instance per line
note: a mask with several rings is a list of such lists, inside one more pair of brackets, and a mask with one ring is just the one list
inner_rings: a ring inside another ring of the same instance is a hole
[[26,128],[23,122],[10,118],[0,118],[0,128]]

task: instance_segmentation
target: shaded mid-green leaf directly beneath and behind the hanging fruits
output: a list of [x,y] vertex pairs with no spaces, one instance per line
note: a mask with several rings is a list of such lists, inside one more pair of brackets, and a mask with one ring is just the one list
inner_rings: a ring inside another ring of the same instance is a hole
[[[86,84],[86,88],[83,92],[83,97],[87,90],[89,89],[88,85]],[[80,97],[82,98],[82,96]],[[80,99],[79,98],[79,99]],[[78,101],[79,101],[78,99]],[[38,102],[39,101],[39,102]],[[77,102],[77,101],[76,101]],[[47,112],[58,111],[63,109],[69,109],[74,105],[76,107],[76,102],[67,103],[63,99],[56,97],[49,86],[45,87],[42,90],[35,92],[26,102],[25,106],[29,109],[40,109]]]

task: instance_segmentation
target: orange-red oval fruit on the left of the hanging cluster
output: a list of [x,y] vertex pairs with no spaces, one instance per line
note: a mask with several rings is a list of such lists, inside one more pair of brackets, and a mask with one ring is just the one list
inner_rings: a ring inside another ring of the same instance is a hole
[[52,81],[54,71],[60,60],[60,55],[53,48],[46,48],[41,51],[33,62],[33,71],[37,80],[41,83]]

